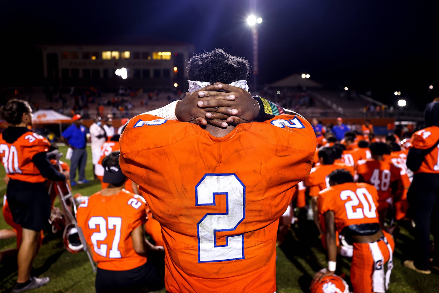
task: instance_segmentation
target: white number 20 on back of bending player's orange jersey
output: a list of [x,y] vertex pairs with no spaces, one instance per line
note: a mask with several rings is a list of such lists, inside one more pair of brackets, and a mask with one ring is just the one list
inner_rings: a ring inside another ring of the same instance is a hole
[[[372,199],[372,195],[367,191],[366,188],[357,188],[355,192],[349,189],[340,192],[340,198],[342,200],[346,200],[348,199],[348,197],[351,200],[345,203],[345,209],[346,217],[349,220],[363,219],[364,217],[367,217],[369,219],[377,217],[374,200]],[[357,207],[354,211],[354,207],[359,206],[360,202],[363,207]]]

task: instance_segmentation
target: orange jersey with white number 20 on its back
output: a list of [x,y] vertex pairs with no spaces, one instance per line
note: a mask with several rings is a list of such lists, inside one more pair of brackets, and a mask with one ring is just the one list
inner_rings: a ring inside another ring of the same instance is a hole
[[370,184],[348,182],[326,188],[319,192],[317,209],[324,227],[324,213],[333,211],[338,233],[349,225],[379,223],[378,194]]

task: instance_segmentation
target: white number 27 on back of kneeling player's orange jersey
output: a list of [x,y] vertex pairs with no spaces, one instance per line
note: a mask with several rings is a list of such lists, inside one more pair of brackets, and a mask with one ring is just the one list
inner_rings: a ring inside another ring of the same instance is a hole
[[[90,239],[91,243],[93,243],[93,250],[95,253],[100,256],[107,257],[107,244],[97,245],[98,241],[104,241],[107,238],[107,221],[105,221],[104,217],[91,217],[88,220],[88,228],[96,229],[99,226],[99,232],[94,232]],[[110,258],[121,258],[122,255],[119,251],[119,242],[120,242],[120,229],[122,228],[122,218],[121,217],[108,217],[108,229],[115,230],[114,239],[112,242],[112,246],[110,249],[110,254],[108,257]]]

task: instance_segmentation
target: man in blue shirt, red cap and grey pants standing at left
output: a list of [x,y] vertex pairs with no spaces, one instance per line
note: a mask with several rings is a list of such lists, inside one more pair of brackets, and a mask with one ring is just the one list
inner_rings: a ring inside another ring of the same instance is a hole
[[73,149],[70,162],[70,184],[74,186],[76,185],[76,169],[78,169],[79,173],[79,184],[87,183],[89,181],[85,179],[85,165],[87,163],[87,151],[85,149],[87,128],[82,125],[83,120],[79,114],[73,116],[72,121],[72,125],[61,134],[61,141],[65,142],[69,148]]

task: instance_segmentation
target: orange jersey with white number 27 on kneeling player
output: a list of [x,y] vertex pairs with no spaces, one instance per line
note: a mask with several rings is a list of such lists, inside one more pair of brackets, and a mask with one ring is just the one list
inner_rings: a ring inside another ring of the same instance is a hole
[[131,239],[131,232],[146,222],[145,209],[140,195],[124,189],[110,196],[97,192],[79,205],[76,220],[98,268],[126,271],[146,263],[146,257],[134,251]]

